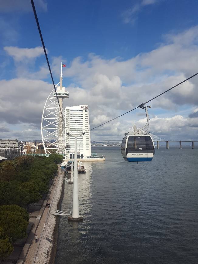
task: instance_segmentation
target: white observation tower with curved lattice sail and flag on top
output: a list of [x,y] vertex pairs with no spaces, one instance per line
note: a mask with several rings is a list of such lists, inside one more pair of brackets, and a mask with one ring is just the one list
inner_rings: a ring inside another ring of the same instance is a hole
[[69,157],[70,145],[66,132],[69,127],[66,123],[64,124],[66,117],[63,110],[63,100],[69,97],[69,92],[62,86],[62,67],[65,65],[61,63],[60,82],[55,86],[56,92],[54,89],[51,91],[43,108],[41,136],[46,154],[58,153],[67,158]]

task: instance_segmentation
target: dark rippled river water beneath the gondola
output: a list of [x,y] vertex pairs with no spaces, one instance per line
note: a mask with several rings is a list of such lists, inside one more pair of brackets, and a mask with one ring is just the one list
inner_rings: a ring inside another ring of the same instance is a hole
[[[151,162],[126,162],[120,147],[92,147],[79,211],[59,224],[56,264],[198,263],[198,149],[160,147]],[[72,209],[65,184],[62,210]]]

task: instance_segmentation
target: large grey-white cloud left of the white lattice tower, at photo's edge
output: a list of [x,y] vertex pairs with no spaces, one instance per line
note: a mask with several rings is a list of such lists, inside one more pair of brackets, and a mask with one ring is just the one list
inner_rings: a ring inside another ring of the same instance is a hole
[[31,123],[39,126],[48,91],[53,86],[41,80],[1,80],[0,120],[8,124]]

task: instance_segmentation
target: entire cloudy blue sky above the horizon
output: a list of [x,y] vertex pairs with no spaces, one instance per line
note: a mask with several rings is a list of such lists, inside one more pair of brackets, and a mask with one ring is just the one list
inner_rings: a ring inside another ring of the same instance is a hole
[[[198,72],[198,1],[34,0],[53,78],[69,91],[64,105],[89,105],[90,128]],[[0,138],[41,139],[53,89],[28,0],[0,0]],[[198,76],[151,101],[149,131],[164,140],[197,140]],[[137,109],[91,131],[121,140]]]

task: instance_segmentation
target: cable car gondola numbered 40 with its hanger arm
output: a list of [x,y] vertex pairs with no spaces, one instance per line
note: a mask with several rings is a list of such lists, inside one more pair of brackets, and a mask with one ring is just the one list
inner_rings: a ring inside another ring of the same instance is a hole
[[[147,123],[144,127],[136,129],[132,134],[125,133],[125,137],[121,144],[121,153],[125,161],[138,162],[139,161],[152,161],[155,154],[155,145],[153,143],[150,133],[146,133],[149,128],[149,114],[147,106],[141,107],[145,109]],[[149,107],[150,108],[150,107]]]

